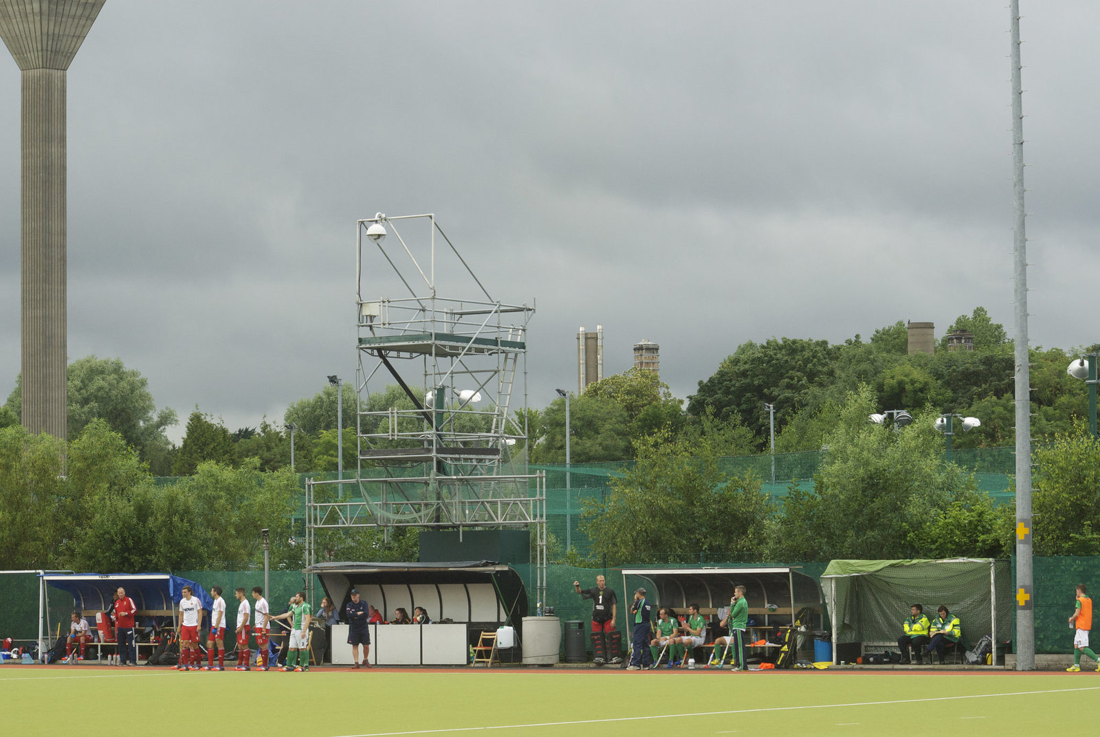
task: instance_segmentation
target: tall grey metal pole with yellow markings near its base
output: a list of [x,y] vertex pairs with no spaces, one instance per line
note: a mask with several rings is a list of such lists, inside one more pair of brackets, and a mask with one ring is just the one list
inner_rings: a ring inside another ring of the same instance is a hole
[[[1020,0],[1011,0],[1013,306],[1016,410],[1016,670],[1035,668],[1035,588],[1032,573],[1031,366],[1027,351],[1027,238],[1024,231],[1024,112],[1020,61]],[[997,652],[997,642],[993,642]]]

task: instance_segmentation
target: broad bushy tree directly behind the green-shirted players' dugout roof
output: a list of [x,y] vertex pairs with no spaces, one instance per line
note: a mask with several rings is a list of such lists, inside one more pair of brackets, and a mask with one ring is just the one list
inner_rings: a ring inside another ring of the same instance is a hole
[[765,548],[768,496],[751,475],[728,477],[707,438],[652,437],[637,463],[612,481],[605,501],[584,502],[581,529],[608,565],[758,559]]

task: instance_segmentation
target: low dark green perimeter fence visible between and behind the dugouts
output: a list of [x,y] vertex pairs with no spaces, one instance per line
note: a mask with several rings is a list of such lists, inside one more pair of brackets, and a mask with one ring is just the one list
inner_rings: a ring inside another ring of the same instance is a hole
[[[723,563],[729,566],[752,568],[759,563]],[[795,563],[800,565],[802,572],[820,582],[821,574],[825,571],[826,563]],[[528,600],[531,603],[531,614],[535,607],[535,569],[528,564],[515,564],[513,568],[524,579],[528,590]],[[660,565],[647,565],[647,568],[661,568]],[[684,568],[678,565],[676,568]],[[1013,561],[1013,572],[1015,564]],[[1067,629],[1066,619],[1074,608],[1074,586],[1078,583],[1086,583],[1093,591],[1100,587],[1100,582],[1092,575],[1100,570],[1100,557],[1090,558],[1035,558],[1034,569],[1034,610],[1035,610],[1035,651],[1040,653],[1048,652],[1071,652],[1072,632]],[[222,587],[229,608],[235,610],[235,602],[232,592],[238,586],[246,590],[252,586],[262,586],[264,573],[260,571],[175,571],[176,575],[196,581],[205,588],[219,585]],[[550,565],[547,571],[547,597],[543,604],[554,607],[554,615],[562,622],[579,620],[587,622],[592,614],[591,602],[582,600],[573,591],[573,581],[580,581],[582,587],[588,588],[595,585],[597,575],[607,578],[607,585],[619,595],[619,626],[625,627],[625,612],[629,603],[629,597],[623,591],[623,570],[614,568],[575,568],[572,565]],[[1013,573],[1014,575],[1014,573]],[[272,612],[283,612],[286,602],[290,596],[302,588],[307,588],[307,578],[300,571],[272,571],[271,588],[268,601],[272,603]],[[1015,588],[1013,580],[1013,590]],[[627,590],[641,585],[635,580],[627,581]],[[315,581],[314,601],[315,608],[320,604],[323,596],[320,583]],[[68,613],[73,607],[73,598],[59,590],[50,590],[50,615],[53,623],[51,637],[56,636],[57,623],[62,623],[63,631],[67,629]],[[899,631],[901,620],[905,612],[899,612]],[[35,574],[7,574],[0,573],[0,639],[11,637],[16,640],[33,640],[37,638],[38,617],[38,580]],[[1008,635],[1015,638],[1015,629]],[[970,638],[977,639],[977,637]],[[972,644],[971,644],[972,645]]]

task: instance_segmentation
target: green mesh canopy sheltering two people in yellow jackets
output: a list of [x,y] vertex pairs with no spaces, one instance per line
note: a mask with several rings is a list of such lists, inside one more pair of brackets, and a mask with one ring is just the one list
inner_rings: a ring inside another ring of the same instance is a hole
[[834,663],[837,642],[897,642],[913,604],[924,607],[930,622],[945,605],[959,618],[968,646],[983,635],[992,635],[996,642],[1012,627],[1007,560],[834,560],[821,582],[833,627]]

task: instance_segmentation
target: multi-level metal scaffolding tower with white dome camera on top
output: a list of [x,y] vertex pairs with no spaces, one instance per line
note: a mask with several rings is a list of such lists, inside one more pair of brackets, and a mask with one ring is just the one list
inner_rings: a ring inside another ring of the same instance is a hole
[[309,564],[318,529],[534,528],[541,597],[546,476],[527,473],[513,406],[534,306],[494,299],[433,215],[360,220],[355,272],[359,466],[307,483]]

